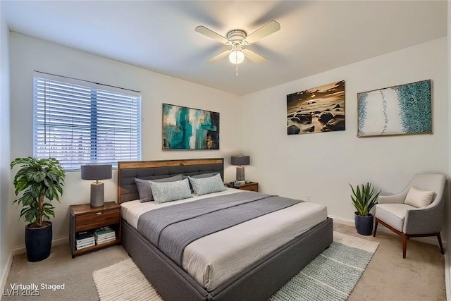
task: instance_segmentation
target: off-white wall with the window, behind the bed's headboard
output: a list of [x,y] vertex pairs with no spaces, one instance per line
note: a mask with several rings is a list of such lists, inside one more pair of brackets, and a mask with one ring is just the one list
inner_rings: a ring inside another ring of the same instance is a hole
[[[240,149],[240,121],[235,118],[240,97],[185,80],[118,63],[57,44],[11,32],[11,157],[32,155],[32,71],[39,70],[142,92],[142,160],[229,158]],[[178,104],[220,113],[220,150],[162,151],[161,104]],[[233,180],[235,169],[226,160],[225,178]],[[104,180],[105,199],[116,200],[116,172]],[[80,172],[66,173],[61,204],[56,203],[54,239],[68,237],[68,207],[89,203],[90,181]],[[11,194],[11,199],[14,195]],[[25,221],[18,221],[20,207],[14,205],[10,223],[13,246],[24,245]]]

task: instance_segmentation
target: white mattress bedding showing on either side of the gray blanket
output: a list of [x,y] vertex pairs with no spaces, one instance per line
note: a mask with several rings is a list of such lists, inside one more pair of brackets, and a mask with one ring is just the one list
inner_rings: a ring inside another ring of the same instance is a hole
[[[235,192],[242,190],[229,188],[224,192],[163,204],[140,203],[139,200],[125,202],[121,204],[122,216],[137,228],[139,216],[148,210]],[[249,263],[261,259],[326,219],[326,206],[310,202],[260,216],[191,242],[183,252],[183,269],[206,290],[214,290]]]

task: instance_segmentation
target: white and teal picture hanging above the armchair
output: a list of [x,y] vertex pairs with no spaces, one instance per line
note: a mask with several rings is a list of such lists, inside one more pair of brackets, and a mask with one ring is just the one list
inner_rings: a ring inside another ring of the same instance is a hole
[[432,134],[432,81],[357,93],[357,137]]

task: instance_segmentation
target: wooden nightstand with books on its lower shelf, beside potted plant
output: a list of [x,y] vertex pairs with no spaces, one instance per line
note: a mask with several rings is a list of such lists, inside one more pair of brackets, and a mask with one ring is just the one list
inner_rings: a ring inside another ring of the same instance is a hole
[[[91,207],[90,204],[70,205],[69,242],[72,258],[86,252],[99,250],[121,243],[121,205],[116,202],[105,202],[104,206]],[[109,226],[116,232],[116,240],[100,245],[75,250],[75,234],[82,231],[94,231],[97,228]]]

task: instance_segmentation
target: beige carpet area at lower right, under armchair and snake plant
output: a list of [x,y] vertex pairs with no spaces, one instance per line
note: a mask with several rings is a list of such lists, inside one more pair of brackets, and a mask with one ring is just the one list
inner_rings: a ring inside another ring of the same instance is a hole
[[[402,258],[402,239],[391,231],[376,237],[357,234],[354,226],[334,223],[335,231],[379,242],[378,251],[347,301],[446,301],[445,257],[435,245],[410,239]],[[382,229],[381,229],[382,230]],[[450,252],[445,250],[445,252]]]

